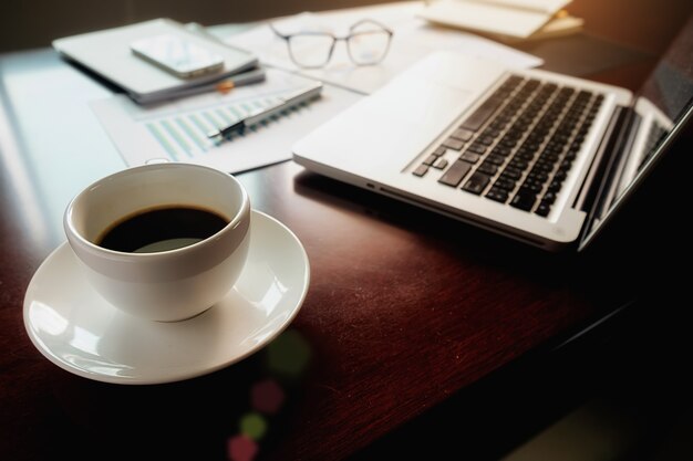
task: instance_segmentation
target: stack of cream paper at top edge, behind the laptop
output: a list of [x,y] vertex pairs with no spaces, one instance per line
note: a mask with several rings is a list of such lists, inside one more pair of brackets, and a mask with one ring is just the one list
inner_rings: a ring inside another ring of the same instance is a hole
[[571,0],[437,0],[420,15],[504,40],[527,40],[575,32],[582,20],[562,8]]

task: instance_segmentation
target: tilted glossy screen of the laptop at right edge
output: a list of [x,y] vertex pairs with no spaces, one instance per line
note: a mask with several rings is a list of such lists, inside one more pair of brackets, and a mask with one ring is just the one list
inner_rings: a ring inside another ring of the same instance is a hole
[[692,117],[693,18],[633,98],[619,132],[619,151],[613,153],[608,160],[610,165],[606,166],[599,200],[592,207],[580,249],[632,196]]

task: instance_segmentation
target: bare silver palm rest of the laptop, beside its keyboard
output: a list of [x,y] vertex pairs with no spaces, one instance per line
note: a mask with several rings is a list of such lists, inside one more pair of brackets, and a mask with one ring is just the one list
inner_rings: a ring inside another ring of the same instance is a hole
[[363,177],[400,171],[503,72],[467,56],[424,60],[301,139],[294,159]]

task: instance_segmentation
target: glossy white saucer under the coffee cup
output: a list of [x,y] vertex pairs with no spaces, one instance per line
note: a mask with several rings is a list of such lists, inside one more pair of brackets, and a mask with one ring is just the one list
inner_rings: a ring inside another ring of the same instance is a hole
[[310,280],[298,238],[259,211],[251,219],[248,260],[236,286],[210,310],[175,323],[141,319],[108,304],[63,243],[27,289],[29,337],[61,368],[105,383],[176,381],[247,357],[289,325]]

